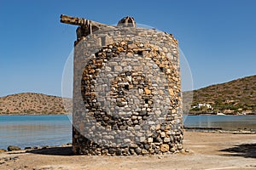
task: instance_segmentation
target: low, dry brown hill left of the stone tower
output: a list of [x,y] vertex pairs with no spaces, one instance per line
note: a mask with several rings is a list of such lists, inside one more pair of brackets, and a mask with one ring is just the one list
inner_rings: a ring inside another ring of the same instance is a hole
[[[71,103],[71,99],[66,100]],[[66,114],[66,111],[61,97],[22,93],[1,97],[0,114]]]

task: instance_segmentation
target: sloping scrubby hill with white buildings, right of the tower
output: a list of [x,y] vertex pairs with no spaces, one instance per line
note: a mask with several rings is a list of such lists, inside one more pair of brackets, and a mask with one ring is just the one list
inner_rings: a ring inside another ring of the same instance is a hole
[[[191,92],[190,92],[191,93]],[[189,92],[183,93],[186,97]],[[208,104],[199,106],[198,104]],[[189,112],[224,114],[255,114],[256,112],[256,76],[239,78],[231,82],[225,82],[201,88],[193,91],[193,103]]]

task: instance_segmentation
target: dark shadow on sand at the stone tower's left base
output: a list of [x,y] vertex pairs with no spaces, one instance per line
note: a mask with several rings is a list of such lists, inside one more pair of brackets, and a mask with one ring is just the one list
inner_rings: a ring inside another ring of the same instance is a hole
[[72,146],[44,148],[39,150],[29,150],[26,152],[51,156],[73,156]]

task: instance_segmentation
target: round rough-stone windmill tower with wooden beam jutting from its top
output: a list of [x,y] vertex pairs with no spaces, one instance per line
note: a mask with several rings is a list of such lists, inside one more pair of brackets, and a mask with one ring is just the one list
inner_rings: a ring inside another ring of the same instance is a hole
[[181,80],[172,34],[61,15],[79,25],[73,59],[73,152],[153,155],[183,149]]

